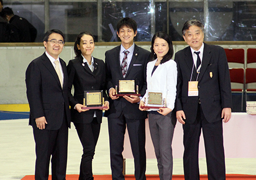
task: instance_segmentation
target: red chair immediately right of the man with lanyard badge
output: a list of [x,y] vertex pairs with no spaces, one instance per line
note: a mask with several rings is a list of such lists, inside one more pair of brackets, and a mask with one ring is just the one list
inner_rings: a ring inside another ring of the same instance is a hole
[[[243,98],[244,89],[245,89],[245,78],[244,78],[244,69],[243,68],[229,68],[230,82],[240,84],[240,88],[232,88],[232,106],[233,112],[243,112],[245,111],[244,105],[245,101]],[[240,96],[237,98],[237,95]]]

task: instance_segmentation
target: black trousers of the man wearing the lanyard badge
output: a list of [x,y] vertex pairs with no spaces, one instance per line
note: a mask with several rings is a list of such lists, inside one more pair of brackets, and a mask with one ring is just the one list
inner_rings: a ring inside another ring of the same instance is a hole
[[183,125],[184,137],[184,176],[185,180],[198,180],[199,176],[199,139],[203,130],[207,172],[209,180],[224,180],[225,156],[223,145],[222,119],[209,123],[199,104],[196,121]]

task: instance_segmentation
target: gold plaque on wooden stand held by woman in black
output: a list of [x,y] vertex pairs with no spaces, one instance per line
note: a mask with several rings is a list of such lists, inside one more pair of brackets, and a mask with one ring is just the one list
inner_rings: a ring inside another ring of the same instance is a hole
[[84,105],[82,109],[107,109],[102,106],[104,103],[103,92],[101,91],[84,91]]

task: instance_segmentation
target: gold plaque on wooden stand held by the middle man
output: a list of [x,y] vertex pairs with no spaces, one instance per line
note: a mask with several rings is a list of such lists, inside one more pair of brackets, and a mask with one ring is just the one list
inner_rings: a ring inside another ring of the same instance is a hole
[[141,96],[139,86],[135,85],[135,80],[119,80],[119,86],[115,85],[115,92],[118,93],[114,96]]

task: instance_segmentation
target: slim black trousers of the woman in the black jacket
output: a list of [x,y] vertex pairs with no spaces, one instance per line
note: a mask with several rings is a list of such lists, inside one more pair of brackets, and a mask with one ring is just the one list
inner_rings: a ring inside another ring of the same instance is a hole
[[93,118],[91,123],[74,123],[74,125],[83,148],[79,180],[92,180],[92,160],[100,135],[101,124],[97,122],[97,118]]

